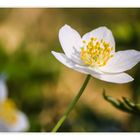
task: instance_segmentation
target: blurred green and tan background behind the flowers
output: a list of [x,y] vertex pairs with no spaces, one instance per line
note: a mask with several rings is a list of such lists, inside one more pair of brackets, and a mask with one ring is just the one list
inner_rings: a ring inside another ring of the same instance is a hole
[[[140,9],[0,9],[0,73],[7,74],[9,97],[26,113],[29,132],[51,131],[85,75],[66,68],[50,53],[61,51],[58,31],[68,24],[81,35],[99,26],[114,34],[116,50],[140,51]],[[93,78],[61,132],[137,132],[140,116],[117,110],[102,90],[140,103],[140,64],[128,71],[129,84]]]

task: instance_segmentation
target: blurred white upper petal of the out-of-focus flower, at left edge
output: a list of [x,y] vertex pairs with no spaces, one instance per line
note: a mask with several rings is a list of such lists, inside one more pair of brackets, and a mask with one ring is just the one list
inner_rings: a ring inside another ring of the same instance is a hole
[[8,96],[5,79],[0,78],[0,101],[4,101]]

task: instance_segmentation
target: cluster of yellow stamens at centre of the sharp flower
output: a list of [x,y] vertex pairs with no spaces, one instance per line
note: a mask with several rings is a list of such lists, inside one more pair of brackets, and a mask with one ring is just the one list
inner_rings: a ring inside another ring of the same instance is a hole
[[83,43],[84,47],[81,48],[80,56],[86,65],[101,67],[106,65],[108,60],[113,57],[113,47],[103,39],[97,41],[97,38],[92,37],[88,43],[86,41],[83,41]]

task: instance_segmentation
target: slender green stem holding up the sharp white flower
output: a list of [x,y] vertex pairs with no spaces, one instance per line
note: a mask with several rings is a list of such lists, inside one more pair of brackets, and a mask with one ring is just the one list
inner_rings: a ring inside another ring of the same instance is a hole
[[87,75],[82,87],[80,88],[78,94],[73,98],[72,102],[68,106],[66,112],[61,117],[61,119],[58,121],[58,123],[55,125],[55,127],[52,129],[52,132],[57,132],[57,130],[60,128],[60,126],[64,123],[64,121],[67,119],[69,113],[72,111],[74,106],[76,105],[77,101],[79,100],[80,96],[82,95],[83,91],[85,90],[88,82],[90,80],[90,75]]

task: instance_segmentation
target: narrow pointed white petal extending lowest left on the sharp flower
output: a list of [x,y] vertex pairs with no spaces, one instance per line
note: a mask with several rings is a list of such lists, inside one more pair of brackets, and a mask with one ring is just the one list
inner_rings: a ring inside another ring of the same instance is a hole
[[88,68],[86,66],[80,66],[80,65],[76,64],[75,62],[70,60],[63,53],[57,53],[57,52],[52,51],[52,54],[55,56],[55,58],[58,61],[60,61],[62,64],[64,64],[68,68],[74,69],[74,70],[76,70],[78,72],[81,72],[81,73],[84,73],[84,74],[90,74],[90,73],[100,74],[100,72],[98,70],[90,69],[90,68]]

